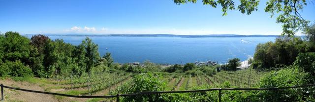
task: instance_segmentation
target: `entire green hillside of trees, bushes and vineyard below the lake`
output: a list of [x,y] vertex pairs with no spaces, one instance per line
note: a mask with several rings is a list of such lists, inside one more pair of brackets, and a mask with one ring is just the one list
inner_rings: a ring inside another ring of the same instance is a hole
[[[117,95],[143,91],[196,90],[207,88],[287,87],[315,82],[314,35],[279,37],[258,44],[253,58],[228,63],[186,63],[162,67],[144,61],[114,63],[111,53],[100,56],[98,45],[87,37],[79,45],[45,35],[31,39],[17,32],[0,34],[0,83],[36,86],[47,92],[69,95]],[[249,68],[242,68],[245,65]],[[241,69],[241,70],[240,70]],[[22,83],[21,83],[22,81]],[[19,91],[5,90],[5,100],[30,101]],[[24,93],[23,93],[24,94]],[[16,96],[18,97],[12,97]],[[224,91],[223,102],[300,102],[315,98],[315,87],[282,91]],[[58,102],[100,102],[114,99],[75,99],[51,96]],[[122,97],[121,102],[218,101],[218,92]]]

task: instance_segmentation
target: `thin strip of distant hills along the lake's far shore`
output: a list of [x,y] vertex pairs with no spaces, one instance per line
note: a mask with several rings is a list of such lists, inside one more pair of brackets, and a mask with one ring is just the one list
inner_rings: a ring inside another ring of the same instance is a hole
[[[25,34],[32,36],[36,34]],[[211,35],[174,35],[174,34],[44,34],[46,36],[116,36],[116,37],[279,37],[279,35],[237,35],[237,34],[211,34]]]

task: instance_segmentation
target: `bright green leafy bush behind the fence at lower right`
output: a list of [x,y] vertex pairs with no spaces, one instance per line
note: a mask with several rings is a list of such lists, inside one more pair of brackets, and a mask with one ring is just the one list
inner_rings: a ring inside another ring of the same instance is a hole
[[[297,66],[289,66],[279,71],[272,71],[260,79],[259,87],[288,87],[309,84],[310,74],[301,71]],[[263,102],[298,102],[314,95],[307,87],[279,91],[260,91],[256,96]]]

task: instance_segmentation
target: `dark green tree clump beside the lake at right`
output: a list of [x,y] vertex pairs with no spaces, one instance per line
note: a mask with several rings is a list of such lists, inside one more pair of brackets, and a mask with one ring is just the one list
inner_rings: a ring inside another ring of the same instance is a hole
[[275,43],[258,44],[254,53],[254,68],[271,68],[276,65],[291,65],[299,53],[313,51],[299,37],[277,38]]

